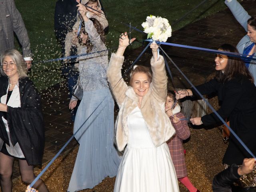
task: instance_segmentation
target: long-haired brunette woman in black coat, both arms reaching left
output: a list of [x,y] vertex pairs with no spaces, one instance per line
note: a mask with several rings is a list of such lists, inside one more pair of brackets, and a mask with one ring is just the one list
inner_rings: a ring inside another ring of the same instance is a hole
[[[219,50],[235,52],[238,50],[229,44],[223,44]],[[196,86],[201,94],[217,92],[221,104],[218,114],[230,120],[230,128],[256,154],[256,87],[253,78],[240,58],[217,54],[215,57],[216,77],[209,82]],[[176,98],[186,96],[196,97],[198,94],[192,89],[180,90]],[[211,113],[202,117],[191,118],[193,125],[211,125],[220,122],[216,114]],[[244,158],[250,158],[250,154],[238,142],[234,135],[230,134],[229,145],[223,158],[223,163],[241,165]],[[255,173],[256,170],[254,170]],[[255,184],[252,182],[251,184]]]

